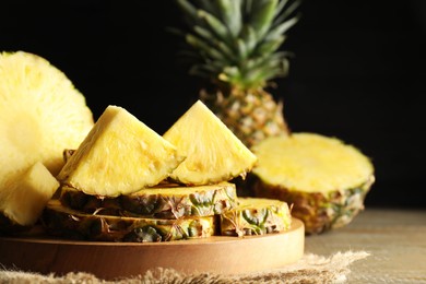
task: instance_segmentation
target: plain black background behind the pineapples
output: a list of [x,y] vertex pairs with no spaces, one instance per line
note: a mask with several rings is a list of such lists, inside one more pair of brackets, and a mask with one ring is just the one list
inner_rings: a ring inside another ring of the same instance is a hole
[[[299,12],[283,46],[295,54],[291,73],[271,90],[292,130],[338,137],[372,159],[367,206],[426,208],[426,1],[305,0]],[[119,105],[162,134],[200,87],[165,31],[178,25],[171,0],[2,2],[0,50],[49,60],[95,119]]]

